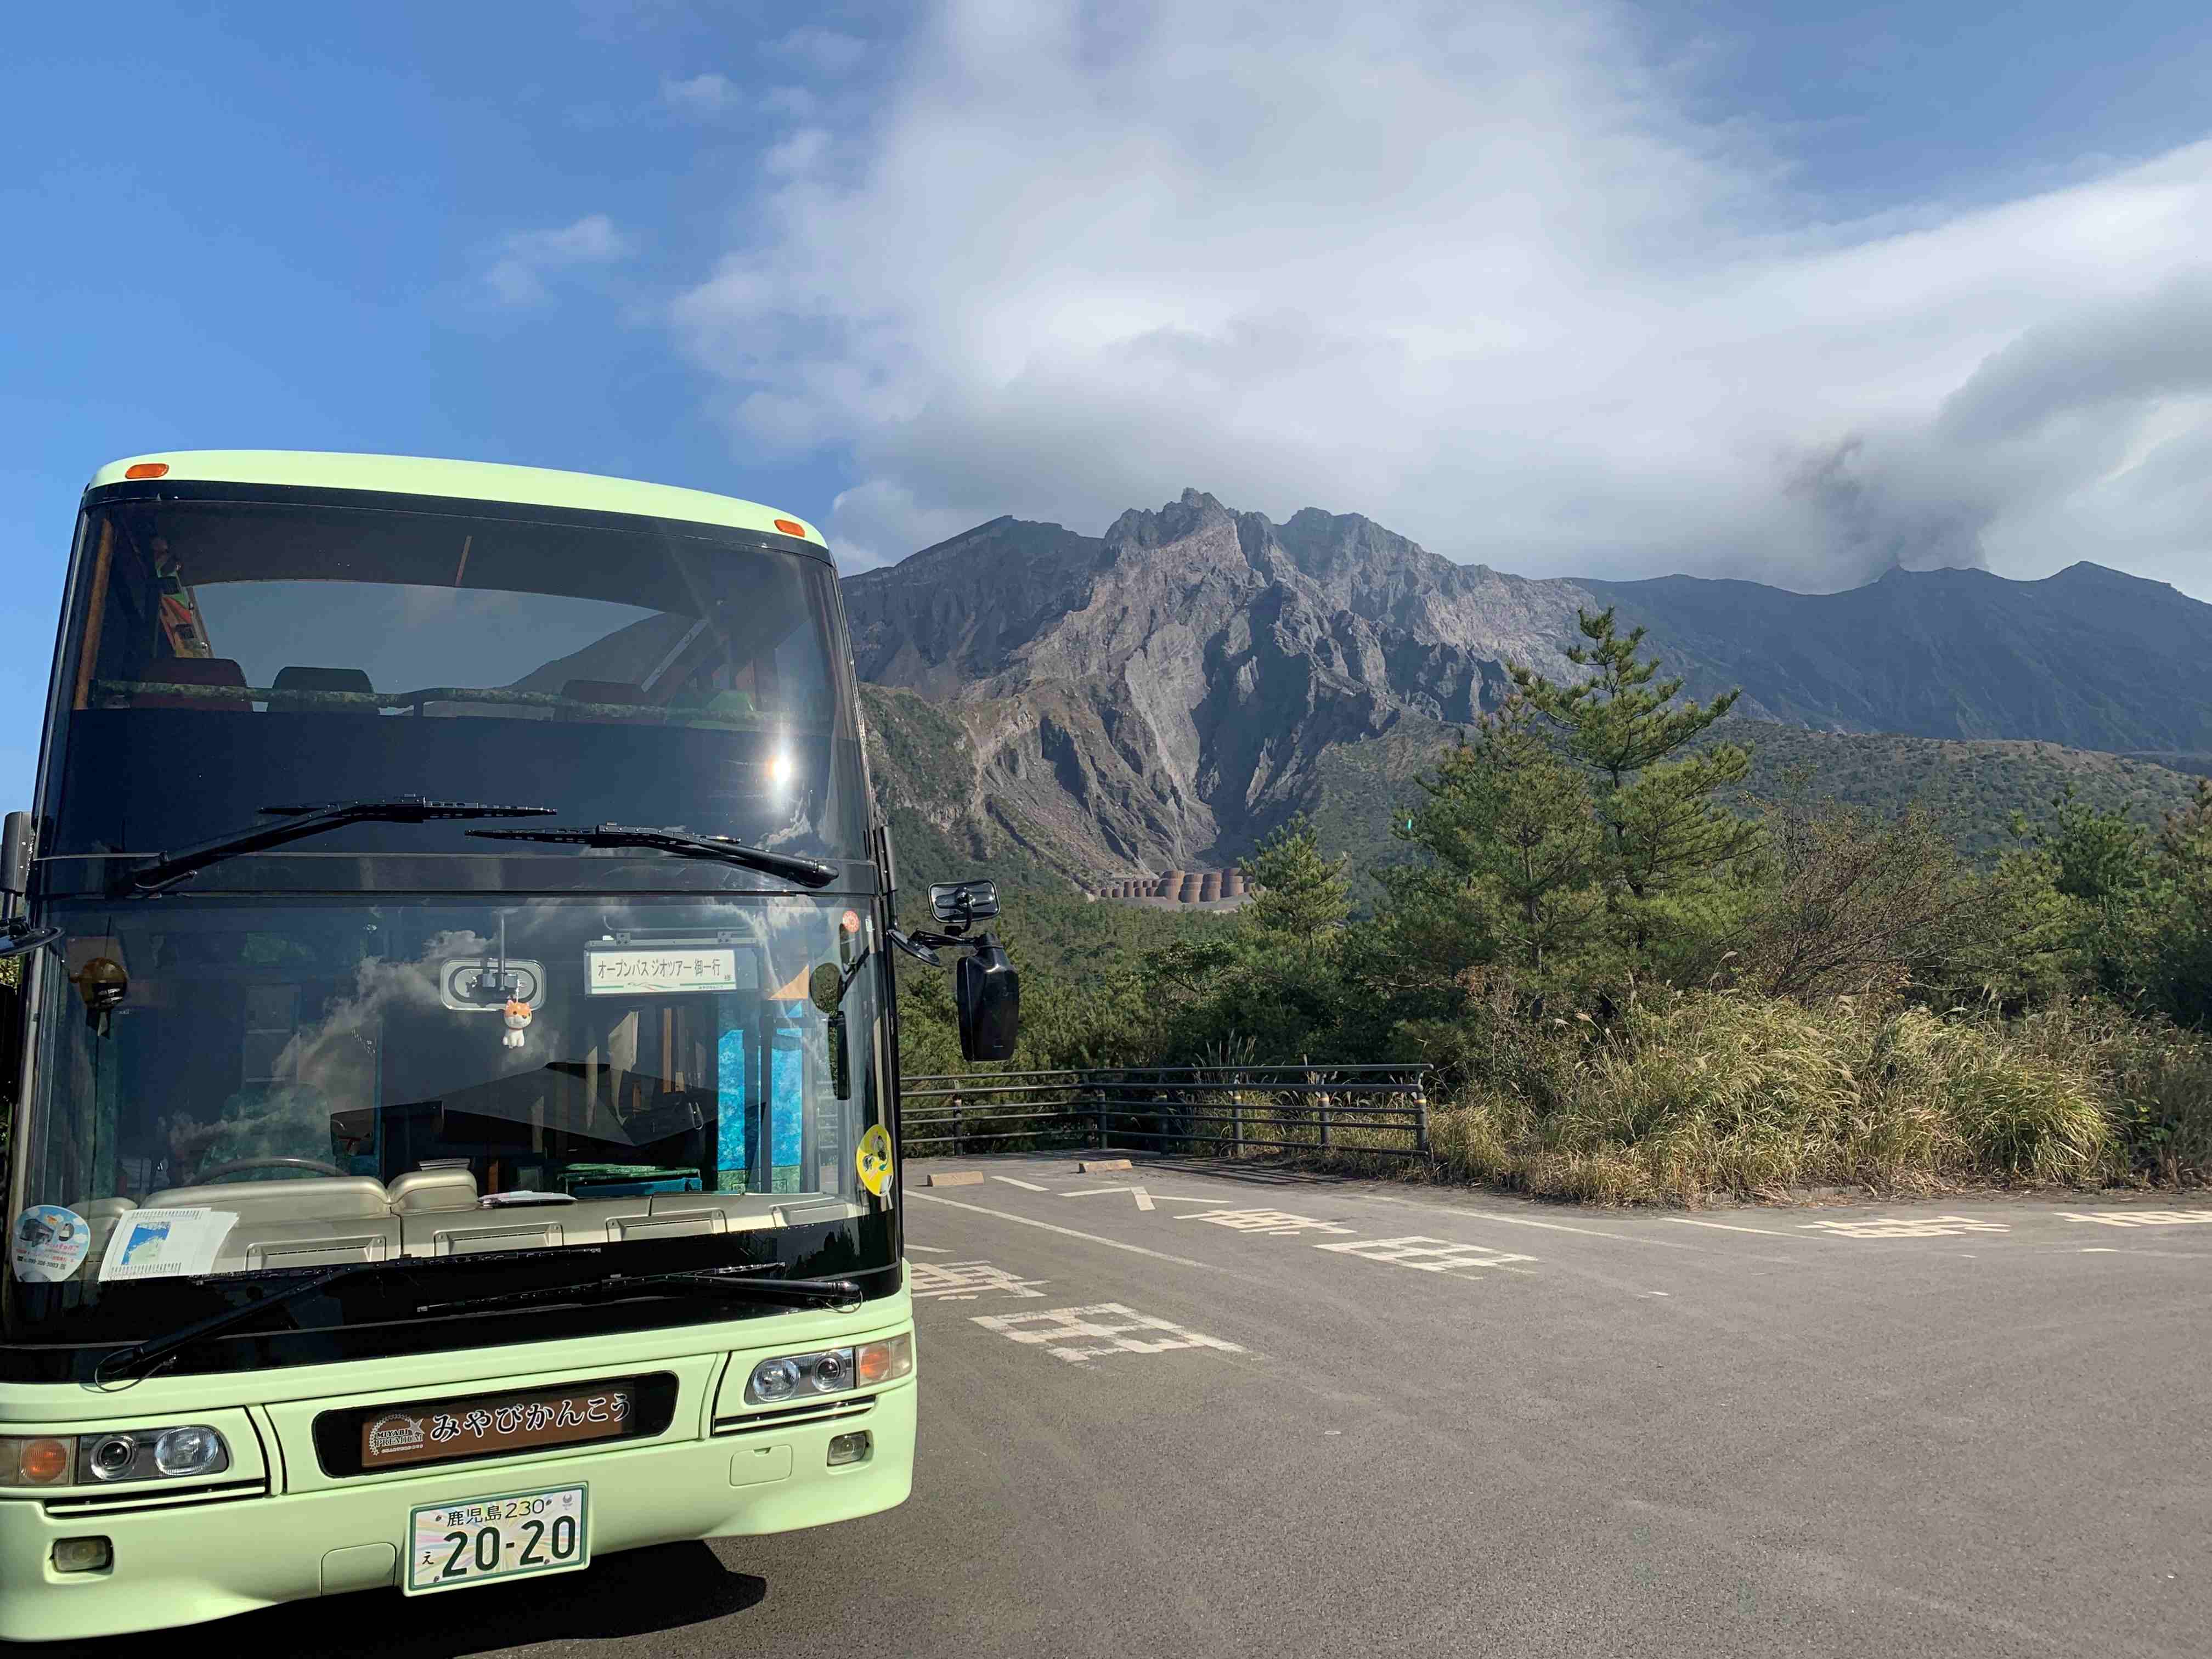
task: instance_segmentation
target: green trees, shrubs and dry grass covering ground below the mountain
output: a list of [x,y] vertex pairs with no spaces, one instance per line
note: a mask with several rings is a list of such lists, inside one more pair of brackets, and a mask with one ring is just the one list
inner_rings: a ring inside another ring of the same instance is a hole
[[[1345,750],[1237,916],[1086,905],[989,799],[900,807],[902,885],[998,865],[1013,1066],[1425,1060],[1467,1179],[1697,1203],[2212,1172],[2212,781],[1734,721],[1610,613],[1566,659],[1464,743]],[[902,1011],[905,1068],[956,1068],[942,978]]]

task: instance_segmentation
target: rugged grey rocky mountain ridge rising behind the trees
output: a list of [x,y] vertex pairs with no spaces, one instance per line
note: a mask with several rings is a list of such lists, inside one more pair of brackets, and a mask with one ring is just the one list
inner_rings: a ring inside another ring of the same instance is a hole
[[1575,613],[1606,604],[1690,695],[1743,686],[1747,719],[2212,752],[2212,606],[2099,566],[1840,595],[1517,577],[1356,513],[1276,524],[1192,489],[1097,538],[991,520],[843,588],[860,679],[960,732],[971,827],[1079,880],[1234,860],[1345,745],[1467,726],[1506,661],[1575,675]]

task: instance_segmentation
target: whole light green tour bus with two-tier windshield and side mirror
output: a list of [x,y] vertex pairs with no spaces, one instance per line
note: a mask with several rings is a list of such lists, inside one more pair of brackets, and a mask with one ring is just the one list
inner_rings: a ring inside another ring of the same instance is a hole
[[752,502],[197,451],[84,493],[0,843],[0,1639],[447,1595],[914,1478],[836,571]]

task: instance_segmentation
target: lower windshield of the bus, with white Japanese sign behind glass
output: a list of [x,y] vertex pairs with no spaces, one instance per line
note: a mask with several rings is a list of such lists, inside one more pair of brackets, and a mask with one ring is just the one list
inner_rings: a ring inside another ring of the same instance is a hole
[[[49,920],[20,1190],[84,1239],[15,1285],[15,1340],[135,1340],[210,1281],[283,1267],[891,1261],[874,925],[843,898],[128,898]],[[810,1000],[823,962],[849,980],[834,1011]]]

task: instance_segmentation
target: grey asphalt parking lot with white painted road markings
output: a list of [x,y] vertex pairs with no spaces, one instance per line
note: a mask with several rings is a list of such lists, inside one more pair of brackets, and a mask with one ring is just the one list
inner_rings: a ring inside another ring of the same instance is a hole
[[[980,1179],[922,1186],[956,1170]],[[2203,1197],[1628,1214],[998,1157],[914,1166],[907,1203],[925,1394],[902,1509],[206,1635],[440,1657],[2212,1650]]]

